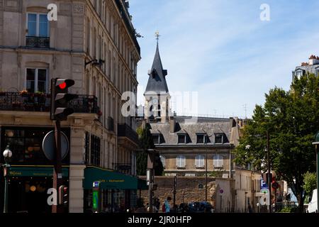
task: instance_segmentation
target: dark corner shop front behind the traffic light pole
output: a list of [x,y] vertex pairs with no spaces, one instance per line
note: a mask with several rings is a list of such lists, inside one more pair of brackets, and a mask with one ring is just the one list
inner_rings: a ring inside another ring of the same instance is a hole
[[[45,157],[41,144],[46,133],[52,128],[1,127],[1,150],[10,146],[12,157],[9,160],[8,210],[9,213],[50,213],[47,204],[47,190],[52,188],[53,165]],[[69,128],[63,128],[69,137]],[[4,158],[0,157],[4,163]],[[69,185],[69,155],[62,162],[63,184]],[[4,208],[4,173],[0,171],[0,212]],[[66,209],[67,211],[67,209]]]

